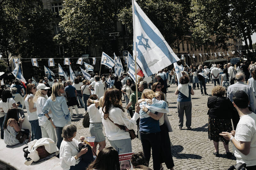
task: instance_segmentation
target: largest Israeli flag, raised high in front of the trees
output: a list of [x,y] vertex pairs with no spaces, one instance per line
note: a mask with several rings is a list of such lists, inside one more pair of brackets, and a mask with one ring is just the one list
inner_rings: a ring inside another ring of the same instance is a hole
[[133,43],[136,43],[137,63],[148,77],[180,59],[135,1],[133,8]]

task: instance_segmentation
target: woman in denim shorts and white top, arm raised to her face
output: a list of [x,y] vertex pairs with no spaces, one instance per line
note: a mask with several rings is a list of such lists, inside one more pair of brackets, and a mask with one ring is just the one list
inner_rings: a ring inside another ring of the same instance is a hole
[[94,146],[92,147],[92,149],[96,153],[98,144],[100,145],[98,152],[100,152],[100,150],[106,147],[106,140],[102,132],[103,125],[102,125],[101,115],[98,109],[99,98],[97,97],[96,94],[93,94],[89,97],[89,99],[91,100],[88,100],[88,101],[92,102],[92,103],[88,102],[88,108],[87,108],[90,116],[89,129],[90,129],[91,136],[95,137]]

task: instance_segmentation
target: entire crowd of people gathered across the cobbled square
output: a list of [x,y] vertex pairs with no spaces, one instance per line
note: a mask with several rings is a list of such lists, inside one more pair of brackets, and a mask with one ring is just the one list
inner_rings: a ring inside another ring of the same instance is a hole
[[[167,118],[168,87],[177,85],[178,129],[183,128],[184,113],[185,125],[191,129],[191,95],[195,94],[194,90],[196,87],[199,89],[199,85],[201,94],[208,95],[206,83],[211,80],[214,88],[207,106],[208,136],[215,147],[213,154],[219,156],[219,141],[222,141],[227,157],[231,157],[228,150],[230,140],[234,144],[237,162],[246,163],[249,169],[255,168],[256,63],[248,67],[244,63],[237,63],[234,67],[230,63],[223,66],[213,64],[210,69],[203,65],[196,69],[191,65],[181,73],[182,77],[178,80],[175,69],[166,68],[152,75],[150,80],[139,77],[137,85],[125,71],[120,77],[111,74],[100,77],[93,73],[90,80],[81,76],[73,82],[65,79],[48,80],[45,77],[39,83],[29,79],[26,85],[18,80],[2,85],[1,139],[11,146],[20,143],[15,137],[22,129],[25,120],[23,109],[26,108],[31,134],[22,143],[27,144],[43,137],[52,139],[60,149],[60,165],[63,169],[88,167],[89,170],[119,170],[129,168],[131,164],[134,168],[147,169],[151,150],[154,170],[163,169],[162,163],[168,169],[174,169],[169,137],[172,126]],[[248,85],[244,81],[248,81]],[[131,118],[125,113],[122,97]],[[81,136],[80,142],[75,139],[77,129],[72,125],[71,117],[79,116],[79,107],[84,108],[84,114],[88,113],[90,117],[89,131],[95,137],[91,150],[88,147],[79,150],[79,143],[84,142],[85,137]],[[73,108],[76,115],[73,114]],[[232,128],[231,119],[236,130]],[[111,145],[108,148],[103,126]],[[141,140],[143,152],[134,153],[130,161],[119,162],[118,154],[133,152],[129,132],[132,129],[137,129],[136,137]],[[89,152],[93,157],[84,159],[83,155]]]

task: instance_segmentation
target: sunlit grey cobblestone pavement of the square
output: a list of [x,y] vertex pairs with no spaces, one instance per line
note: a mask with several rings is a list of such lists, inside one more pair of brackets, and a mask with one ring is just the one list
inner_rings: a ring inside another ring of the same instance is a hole
[[[213,84],[206,84],[207,93],[211,94]],[[179,119],[177,113],[177,96],[174,94],[176,90],[176,85],[171,85],[168,88],[167,101],[169,102],[169,113],[168,118],[172,125],[173,132],[169,133],[172,146],[172,157],[174,161],[174,169],[228,169],[230,166],[235,165],[236,158],[232,156],[231,158],[226,157],[226,152],[222,143],[219,145],[219,157],[215,157],[212,153],[214,152],[213,142],[208,139],[208,107],[207,98],[210,96],[202,96],[200,89],[194,90],[195,95],[192,97],[192,126],[190,130],[177,129]],[[125,107],[125,102],[123,102],[123,107]],[[73,108],[74,109],[74,108]],[[75,113],[75,109],[74,109]],[[84,109],[79,108],[79,113],[83,114]],[[127,117],[130,117],[127,115]],[[81,135],[87,137],[90,136],[89,128],[84,128],[82,125],[83,115],[72,117],[72,124],[77,126],[76,139]],[[184,126],[186,117],[184,115]],[[135,130],[135,129],[134,129]],[[136,129],[137,130],[137,129]],[[103,133],[105,134],[105,129],[103,126]],[[156,139],[157,140],[157,139]],[[110,146],[106,137],[107,147]],[[232,144],[229,144],[230,152],[232,150]],[[142,145],[140,140],[137,138],[132,140],[132,151],[139,152],[142,151]],[[149,166],[153,169],[152,156],[150,159]],[[167,169],[165,164],[163,164],[164,169]]]

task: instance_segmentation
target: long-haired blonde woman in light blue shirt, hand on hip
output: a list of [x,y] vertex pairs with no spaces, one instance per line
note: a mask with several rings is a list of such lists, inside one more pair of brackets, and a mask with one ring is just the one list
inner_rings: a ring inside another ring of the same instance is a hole
[[48,110],[52,111],[53,124],[57,135],[57,147],[60,149],[60,144],[63,138],[61,137],[62,129],[65,125],[71,124],[71,116],[68,109],[64,93],[64,85],[62,83],[54,83],[52,85],[52,95],[49,97],[42,109],[43,114],[50,120]]

